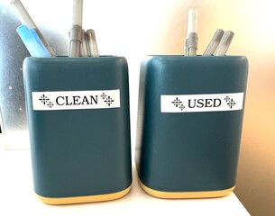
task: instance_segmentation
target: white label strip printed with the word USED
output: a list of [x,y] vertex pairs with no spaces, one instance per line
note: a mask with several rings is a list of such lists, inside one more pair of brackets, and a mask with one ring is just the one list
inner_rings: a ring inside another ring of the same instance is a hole
[[160,112],[221,112],[243,109],[243,93],[160,95]]

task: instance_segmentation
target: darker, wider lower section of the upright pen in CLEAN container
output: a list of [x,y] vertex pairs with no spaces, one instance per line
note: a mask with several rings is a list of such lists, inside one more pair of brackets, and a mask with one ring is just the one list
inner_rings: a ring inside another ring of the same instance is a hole
[[69,32],[69,57],[79,57],[82,40],[82,28],[73,25]]

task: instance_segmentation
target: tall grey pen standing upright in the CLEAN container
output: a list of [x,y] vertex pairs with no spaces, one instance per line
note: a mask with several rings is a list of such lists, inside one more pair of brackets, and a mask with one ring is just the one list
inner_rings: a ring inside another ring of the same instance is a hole
[[73,0],[72,26],[69,32],[69,57],[79,57],[82,40],[83,0]]

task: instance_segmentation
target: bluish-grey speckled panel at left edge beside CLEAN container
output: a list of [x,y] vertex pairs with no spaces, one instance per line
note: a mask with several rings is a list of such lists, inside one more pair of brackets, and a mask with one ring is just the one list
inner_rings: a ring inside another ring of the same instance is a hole
[[[9,148],[8,140],[14,132],[27,133],[22,65],[23,59],[30,54],[16,32],[21,23],[3,3],[0,3],[0,12],[0,108],[6,147]],[[14,145],[20,148],[19,143]]]

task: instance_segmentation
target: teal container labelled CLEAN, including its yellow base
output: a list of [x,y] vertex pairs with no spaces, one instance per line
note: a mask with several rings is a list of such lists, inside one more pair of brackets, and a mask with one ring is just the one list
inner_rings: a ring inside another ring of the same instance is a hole
[[126,59],[26,58],[23,81],[34,191],[41,201],[100,202],[128,193]]

